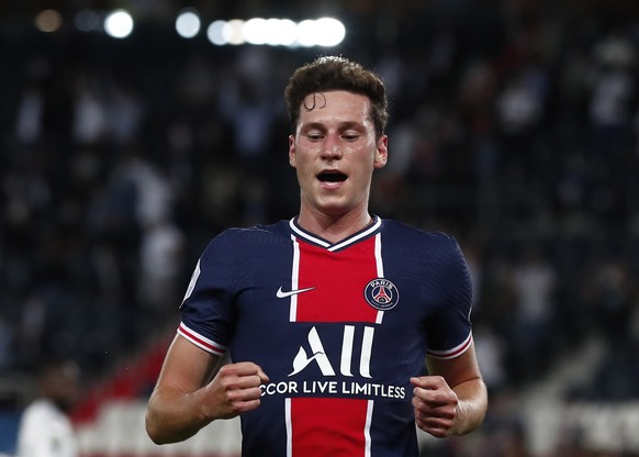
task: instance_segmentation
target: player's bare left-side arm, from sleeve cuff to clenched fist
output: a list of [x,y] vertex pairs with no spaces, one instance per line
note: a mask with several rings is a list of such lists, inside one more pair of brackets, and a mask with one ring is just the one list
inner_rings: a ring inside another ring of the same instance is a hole
[[259,406],[259,386],[268,382],[261,368],[253,363],[228,364],[210,380],[218,360],[176,336],[146,412],[146,431],[156,444],[184,441],[216,419]]

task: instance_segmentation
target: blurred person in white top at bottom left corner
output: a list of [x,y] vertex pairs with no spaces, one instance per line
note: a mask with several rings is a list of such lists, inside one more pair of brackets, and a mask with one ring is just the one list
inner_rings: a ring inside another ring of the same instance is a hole
[[24,410],[18,432],[18,457],[77,457],[78,444],[68,413],[80,392],[80,370],[70,359],[45,363],[38,397]]

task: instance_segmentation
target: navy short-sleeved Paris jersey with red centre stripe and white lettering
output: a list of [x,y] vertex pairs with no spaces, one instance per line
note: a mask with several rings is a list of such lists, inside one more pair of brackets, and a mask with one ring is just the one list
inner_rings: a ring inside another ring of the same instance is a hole
[[178,333],[269,377],[244,456],[417,456],[410,378],[470,346],[471,289],[446,234],[375,216],[329,243],[293,219],[214,237]]

